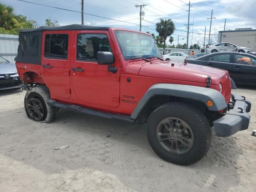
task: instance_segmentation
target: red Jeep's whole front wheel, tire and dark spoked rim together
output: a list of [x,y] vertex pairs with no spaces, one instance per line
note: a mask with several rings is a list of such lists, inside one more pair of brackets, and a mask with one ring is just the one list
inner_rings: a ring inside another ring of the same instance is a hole
[[198,162],[211,143],[211,128],[204,114],[182,102],[156,108],[148,118],[147,135],[160,158],[179,165]]

